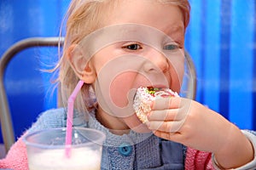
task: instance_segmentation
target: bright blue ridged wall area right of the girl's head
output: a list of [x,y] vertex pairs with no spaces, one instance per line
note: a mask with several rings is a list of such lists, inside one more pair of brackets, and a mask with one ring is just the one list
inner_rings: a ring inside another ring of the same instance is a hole
[[186,48],[198,73],[197,100],[238,127],[256,129],[255,0],[190,0]]

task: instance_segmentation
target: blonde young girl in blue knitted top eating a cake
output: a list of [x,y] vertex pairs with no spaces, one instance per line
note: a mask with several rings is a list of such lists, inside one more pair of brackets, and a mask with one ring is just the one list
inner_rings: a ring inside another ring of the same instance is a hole
[[[139,87],[181,92],[187,0],[73,0],[67,17],[58,65],[62,97],[67,101],[84,81],[73,126],[106,133],[102,169],[256,168],[253,132],[194,100],[158,99],[147,123],[132,109]],[[26,133],[66,121],[65,108],[46,111]],[[0,168],[28,168],[22,137]]]

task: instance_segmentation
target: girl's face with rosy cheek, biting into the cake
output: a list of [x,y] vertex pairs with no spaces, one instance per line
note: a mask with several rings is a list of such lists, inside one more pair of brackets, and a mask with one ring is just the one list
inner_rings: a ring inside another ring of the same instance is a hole
[[119,1],[102,22],[106,27],[92,34],[89,50],[97,117],[105,127],[142,132],[132,109],[136,89],[153,86],[179,92],[181,88],[183,14],[172,4],[129,0]]

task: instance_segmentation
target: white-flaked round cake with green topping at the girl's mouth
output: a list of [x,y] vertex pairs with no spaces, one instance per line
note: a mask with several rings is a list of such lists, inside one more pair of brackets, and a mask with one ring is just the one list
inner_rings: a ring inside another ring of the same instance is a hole
[[138,88],[135,94],[133,108],[139,120],[143,123],[148,122],[147,114],[151,111],[151,105],[154,99],[169,97],[178,97],[178,94],[169,88]]

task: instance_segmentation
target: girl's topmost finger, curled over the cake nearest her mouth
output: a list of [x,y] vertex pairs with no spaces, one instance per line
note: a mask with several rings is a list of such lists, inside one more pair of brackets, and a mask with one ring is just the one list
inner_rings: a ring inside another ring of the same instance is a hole
[[166,110],[178,108],[181,103],[181,98],[159,98],[155,99],[152,105],[152,110]]

